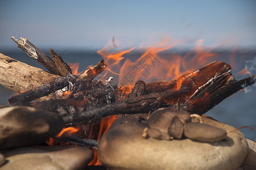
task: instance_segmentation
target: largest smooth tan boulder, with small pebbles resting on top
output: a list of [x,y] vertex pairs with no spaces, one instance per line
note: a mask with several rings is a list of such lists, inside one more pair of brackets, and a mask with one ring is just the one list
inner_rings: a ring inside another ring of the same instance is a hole
[[[98,146],[101,162],[110,169],[238,169],[248,152],[244,135],[228,133],[220,142],[197,142],[191,139],[171,141],[142,139],[147,122],[129,115],[116,120],[102,136]],[[209,116],[202,116],[205,124],[234,129]]]

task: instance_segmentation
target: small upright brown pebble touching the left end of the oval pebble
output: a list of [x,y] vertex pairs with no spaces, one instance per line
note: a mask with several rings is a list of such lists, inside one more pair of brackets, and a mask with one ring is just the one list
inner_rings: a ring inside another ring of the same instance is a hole
[[181,139],[184,131],[184,124],[180,121],[179,117],[172,118],[171,125],[168,128],[168,133],[175,139]]

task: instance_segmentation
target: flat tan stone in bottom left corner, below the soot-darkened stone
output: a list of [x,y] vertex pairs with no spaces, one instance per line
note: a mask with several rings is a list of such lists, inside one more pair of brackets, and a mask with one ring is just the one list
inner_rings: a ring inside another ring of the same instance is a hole
[[81,146],[20,147],[2,151],[6,163],[1,170],[85,169],[93,151]]

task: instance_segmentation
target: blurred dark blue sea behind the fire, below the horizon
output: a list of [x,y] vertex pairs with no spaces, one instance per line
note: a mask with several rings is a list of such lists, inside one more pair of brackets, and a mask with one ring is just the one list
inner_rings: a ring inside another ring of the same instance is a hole
[[[102,57],[96,53],[96,51],[86,51],[86,50],[68,50],[68,49],[54,49],[57,54],[63,58],[65,62],[68,63],[80,63],[80,67],[78,72],[81,73],[88,67],[89,65],[96,65]],[[25,62],[28,65],[39,67],[44,69],[38,62],[34,59],[27,56],[21,49],[9,49],[9,50],[1,50],[1,53],[9,56],[11,58],[17,59],[19,61]],[[48,56],[50,56],[48,50],[43,50]],[[176,56],[173,55],[174,53],[179,54],[179,56],[185,56],[187,52],[183,51],[167,51],[159,53],[159,56],[166,59],[164,61],[172,61]],[[232,66],[232,73],[236,79],[242,79],[246,77],[245,75],[238,75],[236,74],[238,71],[242,70],[245,65],[249,64],[248,61],[253,61],[256,56],[255,50],[216,50],[214,54],[217,57],[213,57],[214,60],[220,60],[226,63],[229,63]],[[129,53],[129,55],[125,55],[125,57],[130,58],[131,61],[135,61],[137,58],[141,57],[141,52],[133,52]],[[193,53],[191,54],[190,58],[193,57]],[[210,56],[209,56],[210,57]],[[188,57],[189,58],[189,57]],[[121,64],[124,62],[121,61]],[[211,61],[211,60],[209,60]],[[256,61],[255,61],[256,62]],[[159,62],[161,67],[167,63]],[[208,62],[209,63],[209,62]],[[107,63],[108,64],[108,63]],[[255,71],[256,63],[250,63],[250,69]],[[182,71],[182,68],[180,68]],[[197,68],[199,69],[199,67]],[[45,70],[45,69],[44,69]],[[256,74],[255,72],[253,74]],[[112,73],[109,73],[107,78],[112,76]],[[98,77],[96,77],[97,79]],[[106,78],[106,79],[107,79]],[[170,80],[170,79],[166,79]],[[151,82],[151,80],[150,80]],[[117,83],[117,82],[114,82]],[[146,83],[147,82],[146,80]],[[7,88],[0,85],[0,105],[8,105],[7,100],[9,97],[14,95],[15,92],[8,90]],[[241,126],[253,126],[256,125],[256,86],[252,86],[247,88],[245,91],[237,92],[212,110],[210,110],[207,114],[212,116],[216,120],[223,122],[225,124],[229,124],[234,128],[238,128]],[[249,130],[249,129],[240,129],[240,131],[245,134],[246,138],[251,139],[254,141],[256,137],[256,130]]]

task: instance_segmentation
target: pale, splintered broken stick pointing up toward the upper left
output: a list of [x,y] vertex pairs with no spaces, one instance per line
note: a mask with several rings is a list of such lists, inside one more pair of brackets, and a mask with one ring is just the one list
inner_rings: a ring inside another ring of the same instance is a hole
[[49,70],[52,74],[61,75],[54,61],[26,38],[20,37],[20,40],[17,40],[15,37],[11,37],[11,39],[17,44],[18,48],[22,49],[25,53],[28,54],[28,56],[34,58],[42,66],[46,67],[46,69]]

